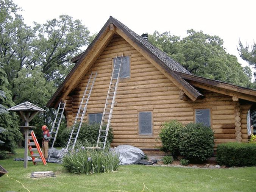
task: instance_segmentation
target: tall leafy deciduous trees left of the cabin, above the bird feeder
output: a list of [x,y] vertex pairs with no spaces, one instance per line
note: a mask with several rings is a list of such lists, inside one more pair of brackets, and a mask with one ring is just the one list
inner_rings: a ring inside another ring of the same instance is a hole
[[72,69],[70,59],[92,41],[89,30],[67,15],[28,26],[12,0],[0,0],[0,5],[0,58],[12,101],[30,101],[46,109],[32,124],[50,124],[53,112],[45,105]]

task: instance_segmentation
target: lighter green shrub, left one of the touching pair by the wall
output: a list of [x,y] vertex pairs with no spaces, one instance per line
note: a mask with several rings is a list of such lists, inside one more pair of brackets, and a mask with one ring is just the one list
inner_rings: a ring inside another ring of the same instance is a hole
[[164,122],[161,127],[159,138],[162,141],[163,150],[170,151],[176,158],[179,155],[180,131],[184,127],[181,122],[178,122],[176,119]]

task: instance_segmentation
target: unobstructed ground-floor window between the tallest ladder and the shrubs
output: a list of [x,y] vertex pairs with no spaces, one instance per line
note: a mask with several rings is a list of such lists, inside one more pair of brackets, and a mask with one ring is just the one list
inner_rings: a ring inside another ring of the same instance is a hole
[[139,134],[152,135],[152,112],[139,112]]

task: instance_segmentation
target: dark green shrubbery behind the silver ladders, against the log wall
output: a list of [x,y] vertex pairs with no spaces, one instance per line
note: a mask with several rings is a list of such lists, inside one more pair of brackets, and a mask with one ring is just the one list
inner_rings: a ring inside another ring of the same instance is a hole
[[[81,129],[80,129],[77,141],[84,141],[84,140],[87,140],[89,142],[97,141],[99,129],[100,129],[100,123],[94,123],[91,125],[88,123],[83,123],[81,126]],[[67,128],[62,129],[58,133],[57,143],[59,143],[62,146],[66,146],[66,144],[69,140],[71,131],[72,131],[72,127],[67,127]],[[109,127],[108,142],[111,143],[113,138],[114,138],[114,135],[113,135],[112,128]]]

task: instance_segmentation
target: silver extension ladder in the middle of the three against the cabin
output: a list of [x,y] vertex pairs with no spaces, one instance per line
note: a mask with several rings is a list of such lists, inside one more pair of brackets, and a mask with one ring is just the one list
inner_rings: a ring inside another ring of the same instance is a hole
[[78,134],[79,134],[80,128],[81,128],[82,123],[83,123],[84,115],[85,115],[86,109],[87,109],[87,104],[88,104],[90,95],[92,93],[92,88],[94,86],[96,76],[97,76],[97,71],[91,73],[91,76],[90,76],[89,81],[87,83],[86,89],[84,91],[82,101],[81,101],[79,109],[78,109],[78,112],[76,114],[75,123],[73,125],[72,131],[71,131],[71,134],[70,134],[70,137],[69,137],[69,142],[67,143],[66,149],[69,148],[69,145],[70,145],[71,141],[72,141],[72,144],[73,144],[72,149],[75,148],[76,140],[78,138]]

